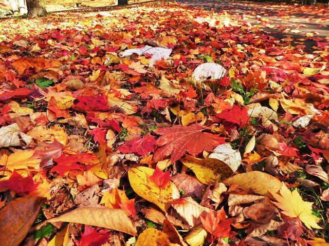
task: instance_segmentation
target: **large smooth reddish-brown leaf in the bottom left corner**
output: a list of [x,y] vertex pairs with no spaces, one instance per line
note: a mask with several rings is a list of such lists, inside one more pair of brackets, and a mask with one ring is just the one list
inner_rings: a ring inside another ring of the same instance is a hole
[[0,211],[1,245],[15,246],[23,241],[43,201],[42,197],[24,196],[9,202]]

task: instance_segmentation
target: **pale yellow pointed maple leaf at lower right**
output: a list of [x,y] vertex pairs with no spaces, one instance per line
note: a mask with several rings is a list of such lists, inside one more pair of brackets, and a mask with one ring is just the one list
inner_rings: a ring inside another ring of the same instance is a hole
[[312,214],[313,202],[303,201],[297,190],[291,192],[285,185],[280,189],[280,195],[272,193],[278,202],[273,202],[282,210],[284,215],[292,218],[299,218],[307,228],[321,227],[317,224],[319,218]]

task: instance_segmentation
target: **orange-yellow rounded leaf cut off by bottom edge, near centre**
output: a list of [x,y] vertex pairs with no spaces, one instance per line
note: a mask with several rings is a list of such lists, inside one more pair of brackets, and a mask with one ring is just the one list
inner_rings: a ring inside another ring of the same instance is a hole
[[170,246],[170,242],[166,233],[158,231],[154,228],[148,228],[143,231],[135,244],[135,246]]

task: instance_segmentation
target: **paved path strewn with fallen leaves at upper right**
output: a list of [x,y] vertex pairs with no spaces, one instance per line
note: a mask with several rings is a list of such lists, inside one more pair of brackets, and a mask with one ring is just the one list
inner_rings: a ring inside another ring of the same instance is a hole
[[291,45],[304,44],[312,52],[316,41],[329,40],[329,8],[325,6],[297,6],[279,3],[254,3],[234,0],[176,0],[177,2],[235,15],[241,20],[268,32],[278,39],[291,37]]

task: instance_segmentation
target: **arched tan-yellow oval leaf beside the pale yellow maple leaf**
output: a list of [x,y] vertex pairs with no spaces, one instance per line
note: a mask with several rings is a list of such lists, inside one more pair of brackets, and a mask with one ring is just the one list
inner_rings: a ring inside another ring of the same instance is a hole
[[236,174],[223,181],[227,186],[237,185],[241,189],[252,189],[263,196],[271,196],[280,190],[282,182],[272,175],[260,171]]

